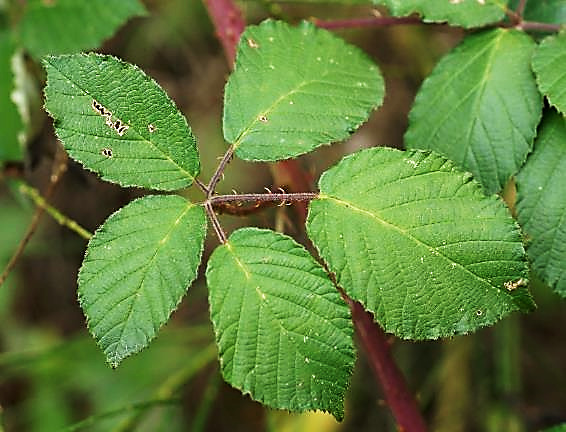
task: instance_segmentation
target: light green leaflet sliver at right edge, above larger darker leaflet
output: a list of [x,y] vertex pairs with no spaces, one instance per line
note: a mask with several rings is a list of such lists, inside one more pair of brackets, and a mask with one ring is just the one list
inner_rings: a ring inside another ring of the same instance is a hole
[[540,91],[566,114],[566,31],[542,41],[533,56]]

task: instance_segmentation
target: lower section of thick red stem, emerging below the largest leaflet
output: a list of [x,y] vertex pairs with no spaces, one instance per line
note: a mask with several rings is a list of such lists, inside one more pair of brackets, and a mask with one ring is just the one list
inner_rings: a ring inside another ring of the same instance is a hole
[[387,404],[395,420],[397,420],[399,430],[406,432],[426,431],[426,425],[417,402],[391,356],[385,333],[360,303],[351,299],[347,301],[352,310],[352,319],[356,325],[360,341],[365,348],[373,371],[381,382]]

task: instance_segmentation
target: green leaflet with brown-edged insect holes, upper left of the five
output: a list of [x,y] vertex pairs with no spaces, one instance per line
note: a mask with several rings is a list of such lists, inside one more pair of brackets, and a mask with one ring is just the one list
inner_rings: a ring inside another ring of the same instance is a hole
[[47,57],[45,108],[72,158],[122,186],[175,190],[199,173],[187,120],[134,65],[99,54]]

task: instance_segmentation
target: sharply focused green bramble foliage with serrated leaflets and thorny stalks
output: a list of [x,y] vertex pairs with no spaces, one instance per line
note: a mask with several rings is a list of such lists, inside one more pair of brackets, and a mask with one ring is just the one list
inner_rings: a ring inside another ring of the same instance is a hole
[[[350,299],[386,332],[426,340],[532,311],[530,272],[566,297],[566,207],[551,186],[566,180],[566,33],[540,43],[528,33],[558,31],[560,14],[524,1],[375,3],[391,23],[481,29],[423,83],[408,150],[348,155],[318,191],[216,189],[233,157],[295,158],[347,139],[382,104],[378,66],[322,21],[246,28],[224,93],[227,150],[207,182],[186,118],[137,66],[98,53],[44,57],[45,109],[70,157],[106,181],[161,192],[108,217],[79,271],[80,305],[112,367],[169,320],[197,276],[208,226],[220,243],[206,280],[222,375],[272,408],[344,417]],[[515,183],[506,205],[498,194]],[[193,185],[201,201],[183,196]],[[312,253],[268,229],[225,233],[222,206],[262,202],[309,203]]]

